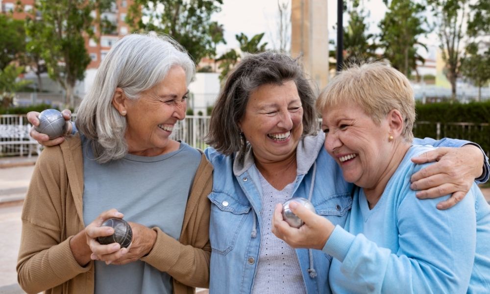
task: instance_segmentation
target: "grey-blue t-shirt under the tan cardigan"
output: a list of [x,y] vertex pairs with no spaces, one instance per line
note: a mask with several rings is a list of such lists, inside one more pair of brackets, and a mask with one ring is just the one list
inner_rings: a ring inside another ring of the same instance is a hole
[[[159,227],[179,239],[184,211],[201,154],[185,143],[154,157],[127,154],[107,164],[93,158],[89,141],[83,148],[83,221],[116,208],[124,220]],[[169,274],[138,260],[126,265],[95,262],[95,293],[172,293]]]

